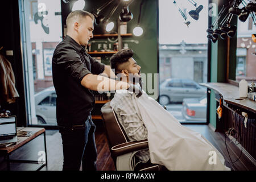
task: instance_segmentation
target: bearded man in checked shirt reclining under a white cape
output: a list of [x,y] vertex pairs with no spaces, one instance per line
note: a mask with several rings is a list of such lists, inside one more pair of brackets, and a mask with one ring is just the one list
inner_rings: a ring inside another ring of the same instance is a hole
[[[115,53],[110,64],[120,80],[141,86],[141,67],[131,49]],[[143,90],[139,94],[117,90],[110,106],[131,141],[148,139],[149,151],[136,154],[142,162],[150,159],[168,170],[230,170],[207,139],[182,126]]]

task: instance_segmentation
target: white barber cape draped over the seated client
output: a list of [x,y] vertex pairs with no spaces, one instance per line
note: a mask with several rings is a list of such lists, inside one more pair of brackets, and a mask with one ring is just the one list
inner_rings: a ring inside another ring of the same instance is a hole
[[200,133],[182,126],[177,119],[143,91],[133,94],[133,104],[148,130],[151,163],[174,170],[230,170],[224,157]]

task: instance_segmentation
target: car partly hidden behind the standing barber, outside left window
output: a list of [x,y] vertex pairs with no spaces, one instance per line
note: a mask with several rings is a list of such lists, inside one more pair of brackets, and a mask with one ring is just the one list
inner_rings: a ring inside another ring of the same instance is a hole
[[36,117],[38,124],[57,125],[56,92],[53,86],[35,94]]

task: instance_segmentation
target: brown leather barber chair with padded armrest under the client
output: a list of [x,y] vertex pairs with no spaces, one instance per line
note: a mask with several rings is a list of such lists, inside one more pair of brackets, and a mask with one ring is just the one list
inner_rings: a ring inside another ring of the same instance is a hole
[[104,120],[105,133],[109,143],[109,150],[117,171],[160,171],[166,170],[164,166],[140,162],[136,152],[148,149],[147,140],[130,141],[119,123],[110,102],[101,107]]

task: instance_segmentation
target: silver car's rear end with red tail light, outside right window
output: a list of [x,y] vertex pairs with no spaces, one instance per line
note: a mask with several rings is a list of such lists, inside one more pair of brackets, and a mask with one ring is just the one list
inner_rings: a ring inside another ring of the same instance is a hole
[[184,98],[182,115],[187,121],[206,121],[207,97]]

